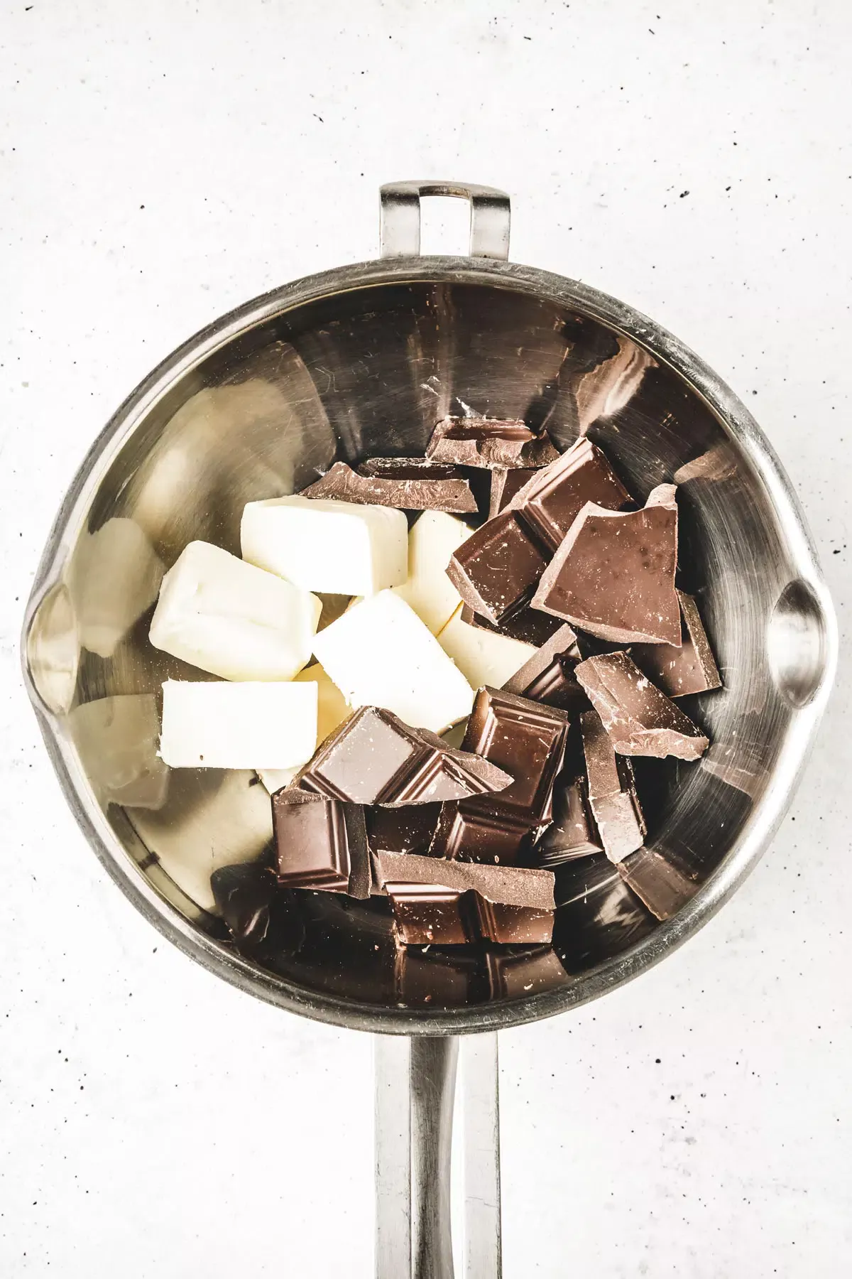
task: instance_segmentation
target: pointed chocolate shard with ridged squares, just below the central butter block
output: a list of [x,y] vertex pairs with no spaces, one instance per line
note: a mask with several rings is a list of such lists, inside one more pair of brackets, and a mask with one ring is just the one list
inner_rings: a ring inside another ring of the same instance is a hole
[[327,737],[293,787],[351,803],[415,804],[501,790],[510,773],[427,729],[363,706]]

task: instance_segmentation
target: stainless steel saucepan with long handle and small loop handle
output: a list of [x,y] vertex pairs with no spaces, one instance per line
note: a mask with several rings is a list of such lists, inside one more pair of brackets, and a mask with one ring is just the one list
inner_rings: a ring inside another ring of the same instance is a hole
[[[470,256],[422,257],[420,197],[470,201]],[[68,802],[109,874],[175,945],[295,1013],[378,1032],[377,1274],[452,1274],[448,1157],[457,1039],[595,999],[695,932],[769,843],[835,665],[832,604],[789,480],[737,396],[676,338],[585,284],[507,261],[510,205],[459,183],[382,189],[382,256],[296,280],[217,320],[125,400],[74,478],[24,628],[24,671]],[[599,441],[637,499],[680,485],[687,588],[724,691],[711,747],[657,765],[648,844],[694,885],[657,921],[605,859],[559,871],[553,952],[400,969],[376,907],[316,894],[257,961],[215,914],[213,868],[271,829],[252,774],[169,773],[157,691],[199,673],[151,647],[160,577],[192,538],[239,554],[253,499],[333,458],[422,454],[469,405]],[[602,865],[603,862],[603,865]],[[322,900],[321,900],[322,899]],[[294,939],[293,931],[299,931]],[[409,1036],[390,1039],[387,1036]],[[466,1267],[499,1273],[496,1040],[465,1096]]]

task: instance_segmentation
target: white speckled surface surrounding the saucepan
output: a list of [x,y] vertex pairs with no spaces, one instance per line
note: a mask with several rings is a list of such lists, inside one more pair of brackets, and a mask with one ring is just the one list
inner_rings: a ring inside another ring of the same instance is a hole
[[[369,1039],[172,950],[59,794],[17,673],[54,512],[172,347],[372,256],[381,182],[455,177],[512,193],[516,261],[623,297],[747,398],[848,640],[852,15],[0,0],[0,1274],[367,1279]],[[736,899],[634,985],[505,1036],[506,1279],[852,1273],[851,714],[847,648]]]

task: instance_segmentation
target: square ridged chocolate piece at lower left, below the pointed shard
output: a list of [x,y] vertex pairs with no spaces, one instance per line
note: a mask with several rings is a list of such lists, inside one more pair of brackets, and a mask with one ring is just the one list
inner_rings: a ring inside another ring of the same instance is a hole
[[367,898],[370,890],[364,811],[304,790],[272,796],[278,883]]

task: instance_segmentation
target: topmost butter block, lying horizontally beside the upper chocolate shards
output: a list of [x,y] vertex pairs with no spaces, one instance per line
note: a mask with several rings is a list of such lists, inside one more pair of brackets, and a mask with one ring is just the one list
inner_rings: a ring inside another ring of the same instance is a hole
[[373,595],[407,576],[407,521],[390,506],[272,498],[243,512],[243,559],[305,591]]

